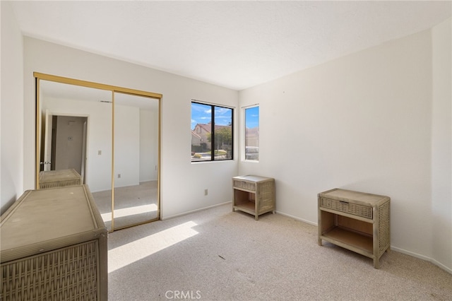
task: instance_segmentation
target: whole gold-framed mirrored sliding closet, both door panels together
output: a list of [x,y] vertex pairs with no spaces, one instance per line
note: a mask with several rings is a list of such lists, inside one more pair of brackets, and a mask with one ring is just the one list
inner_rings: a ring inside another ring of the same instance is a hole
[[36,189],[88,184],[109,231],[158,220],[162,95],[35,78]]

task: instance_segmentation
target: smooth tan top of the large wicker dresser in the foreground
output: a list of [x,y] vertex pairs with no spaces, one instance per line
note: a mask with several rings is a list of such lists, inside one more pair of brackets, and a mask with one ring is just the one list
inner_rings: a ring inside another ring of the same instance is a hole
[[97,225],[88,194],[84,185],[25,191],[1,216],[0,250],[105,227]]

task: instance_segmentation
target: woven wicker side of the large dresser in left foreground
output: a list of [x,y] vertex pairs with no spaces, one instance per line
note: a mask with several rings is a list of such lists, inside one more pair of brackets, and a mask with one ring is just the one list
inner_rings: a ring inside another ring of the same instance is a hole
[[97,240],[1,265],[0,299],[99,300]]

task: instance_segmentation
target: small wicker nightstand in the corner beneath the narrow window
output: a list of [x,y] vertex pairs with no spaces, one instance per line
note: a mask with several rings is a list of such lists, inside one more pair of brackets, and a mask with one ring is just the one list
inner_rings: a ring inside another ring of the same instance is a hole
[[275,213],[275,179],[255,175],[233,177],[232,189],[232,211],[244,211],[256,220],[263,213]]

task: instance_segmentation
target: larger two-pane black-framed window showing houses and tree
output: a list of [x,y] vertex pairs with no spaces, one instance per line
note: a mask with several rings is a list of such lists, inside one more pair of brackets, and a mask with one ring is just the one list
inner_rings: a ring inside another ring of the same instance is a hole
[[191,162],[232,160],[233,111],[191,102]]

